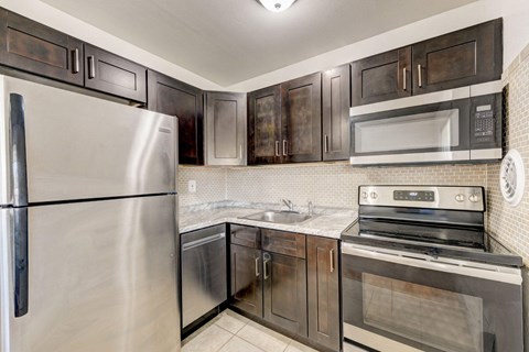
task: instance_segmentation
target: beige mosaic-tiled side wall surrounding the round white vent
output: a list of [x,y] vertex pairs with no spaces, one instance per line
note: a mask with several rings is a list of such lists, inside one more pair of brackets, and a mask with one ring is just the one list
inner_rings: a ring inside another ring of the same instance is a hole
[[517,207],[501,197],[499,164],[487,166],[488,231],[501,239],[509,249],[529,264],[529,45],[518,55],[504,74],[509,86],[508,117],[506,119],[505,151],[516,148],[523,158],[526,189]]

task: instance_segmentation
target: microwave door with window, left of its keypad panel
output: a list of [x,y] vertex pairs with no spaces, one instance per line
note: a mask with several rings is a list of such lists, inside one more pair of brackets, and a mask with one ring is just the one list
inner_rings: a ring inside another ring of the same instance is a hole
[[469,161],[469,109],[465,98],[353,116],[350,164]]

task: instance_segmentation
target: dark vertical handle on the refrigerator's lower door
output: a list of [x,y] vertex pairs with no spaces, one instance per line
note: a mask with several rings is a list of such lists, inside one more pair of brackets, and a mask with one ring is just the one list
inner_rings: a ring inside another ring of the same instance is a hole
[[13,209],[14,317],[29,309],[28,208]]

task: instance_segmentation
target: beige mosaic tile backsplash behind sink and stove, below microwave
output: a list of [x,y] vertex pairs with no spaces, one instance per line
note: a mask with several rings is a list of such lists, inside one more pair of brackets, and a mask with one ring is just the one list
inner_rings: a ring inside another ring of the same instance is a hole
[[228,169],[227,197],[233,200],[356,209],[359,185],[486,184],[485,165],[357,168],[346,163]]

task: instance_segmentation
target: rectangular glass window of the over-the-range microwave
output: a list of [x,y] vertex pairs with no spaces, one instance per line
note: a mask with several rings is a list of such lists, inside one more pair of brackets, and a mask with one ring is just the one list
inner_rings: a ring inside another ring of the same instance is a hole
[[446,150],[460,145],[460,110],[355,123],[355,153]]

